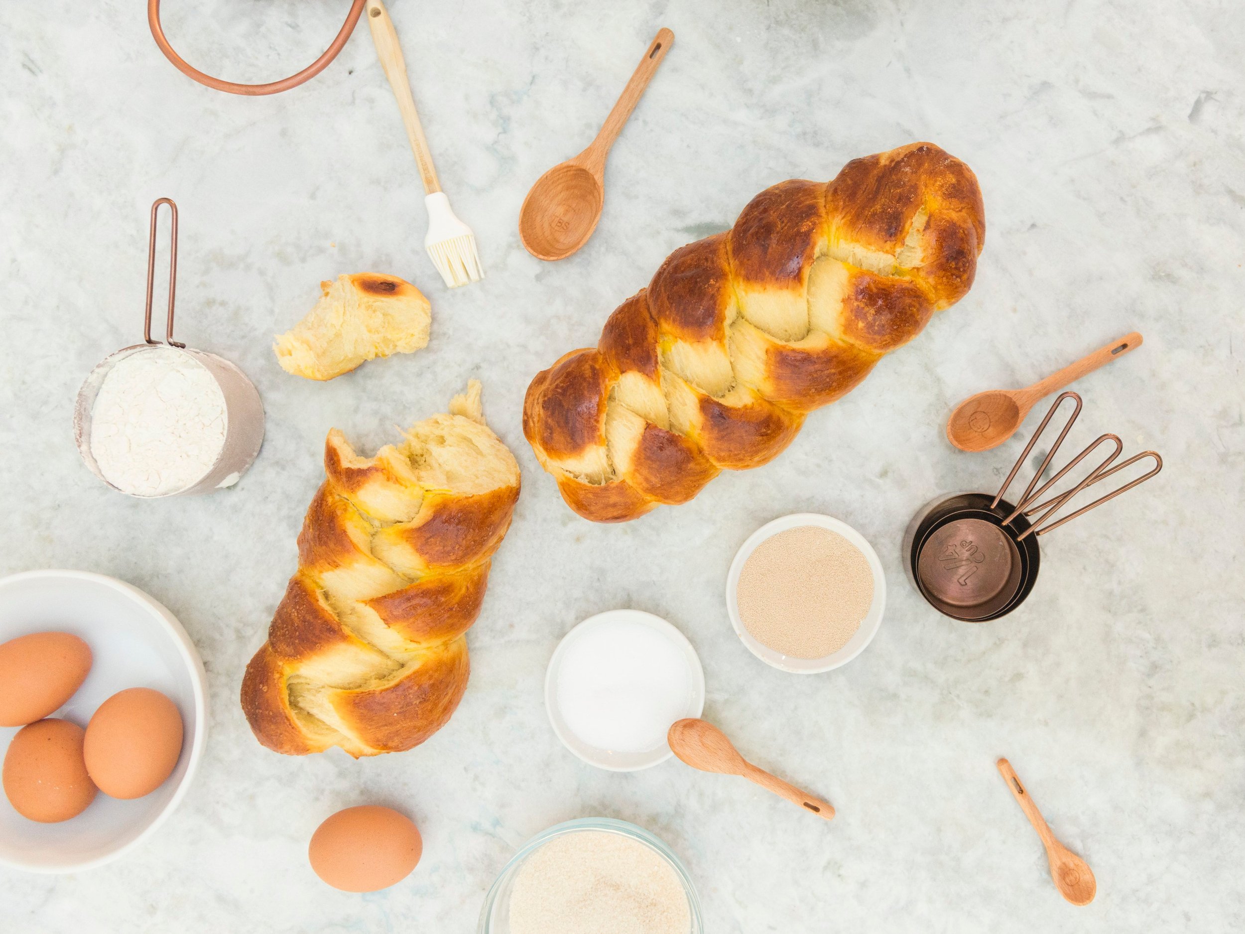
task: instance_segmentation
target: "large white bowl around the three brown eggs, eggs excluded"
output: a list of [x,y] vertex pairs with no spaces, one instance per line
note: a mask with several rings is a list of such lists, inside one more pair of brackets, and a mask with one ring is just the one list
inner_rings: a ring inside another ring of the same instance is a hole
[[[127,687],[153,687],[182,714],[182,756],[168,780],[132,801],[96,795],[61,823],[29,821],[0,795],[0,864],[63,873],[116,859],[154,832],[182,801],[207,730],[203,663],[172,613],[115,578],[81,570],[31,570],[0,579],[0,643],[27,633],[72,633],[91,646],[91,672],[52,716],[86,726],[103,701]],[[17,727],[0,727],[0,756]]]

